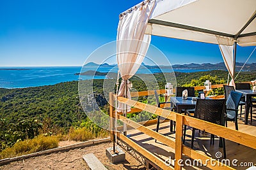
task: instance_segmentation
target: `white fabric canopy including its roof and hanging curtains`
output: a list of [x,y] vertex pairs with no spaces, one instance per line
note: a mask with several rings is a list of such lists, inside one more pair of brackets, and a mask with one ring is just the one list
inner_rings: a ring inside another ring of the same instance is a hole
[[256,0],[148,0],[121,13],[117,60],[124,80],[136,73],[148,48],[140,42],[150,43],[150,35],[218,44],[234,83],[236,45],[256,45]]

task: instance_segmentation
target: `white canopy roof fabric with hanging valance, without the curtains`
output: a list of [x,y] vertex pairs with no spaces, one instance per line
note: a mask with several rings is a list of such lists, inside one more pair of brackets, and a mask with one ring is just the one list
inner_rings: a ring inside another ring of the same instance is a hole
[[255,0],[156,0],[155,3],[145,34],[220,45],[233,45],[235,41],[241,46],[256,45]]

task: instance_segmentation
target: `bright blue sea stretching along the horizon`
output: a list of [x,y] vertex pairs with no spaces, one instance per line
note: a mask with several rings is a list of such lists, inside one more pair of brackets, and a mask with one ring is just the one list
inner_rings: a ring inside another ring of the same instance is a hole
[[[22,70],[7,70],[7,69],[22,69]],[[84,71],[93,70],[92,67],[84,68]],[[94,68],[95,70],[95,68]],[[58,66],[58,67],[0,67],[0,88],[24,88],[37,87],[43,85],[54,85],[65,81],[79,80],[81,66]],[[116,68],[101,67],[97,71],[100,72],[116,72]],[[170,72],[170,69],[162,69],[163,72]],[[192,69],[175,69],[174,71],[191,73],[207,70],[192,70]],[[159,73],[159,69],[150,69],[151,73]],[[148,72],[148,73],[149,73]],[[145,69],[139,69],[137,73],[147,73]],[[83,80],[92,79],[93,76],[83,76]],[[104,79],[106,76],[94,76],[96,79]]]

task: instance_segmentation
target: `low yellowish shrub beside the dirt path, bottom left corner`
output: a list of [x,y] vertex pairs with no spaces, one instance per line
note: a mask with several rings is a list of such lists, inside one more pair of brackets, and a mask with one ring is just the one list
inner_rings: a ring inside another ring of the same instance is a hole
[[29,153],[40,152],[58,147],[56,136],[38,136],[34,139],[26,139],[15,143],[11,148],[6,148],[0,152],[0,159],[17,157]]

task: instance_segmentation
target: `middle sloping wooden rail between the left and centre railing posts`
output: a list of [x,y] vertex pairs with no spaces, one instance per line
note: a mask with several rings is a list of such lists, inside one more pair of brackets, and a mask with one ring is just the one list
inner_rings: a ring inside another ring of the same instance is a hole
[[134,129],[137,129],[138,131],[141,131],[141,132],[147,134],[148,136],[150,136],[154,139],[157,139],[157,141],[160,141],[164,145],[170,146],[171,148],[175,148],[175,142],[172,139],[164,136],[163,134],[159,134],[158,132],[153,131],[152,129],[149,129],[149,128],[145,127],[144,125],[138,124],[137,122],[134,122],[134,121],[130,120],[129,118],[125,118],[120,115],[118,115],[117,118],[119,120],[121,120],[122,122],[124,122],[125,124],[130,125]]

